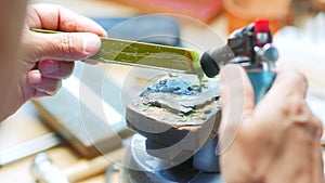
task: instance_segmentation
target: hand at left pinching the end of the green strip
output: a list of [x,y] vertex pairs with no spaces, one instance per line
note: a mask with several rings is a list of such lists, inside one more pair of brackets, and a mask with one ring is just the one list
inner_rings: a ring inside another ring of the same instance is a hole
[[[31,28],[65,31],[62,34],[38,34]],[[101,48],[99,37],[106,31],[93,21],[65,8],[53,4],[34,4],[27,8],[17,63],[17,84],[13,90],[8,112],[14,113],[31,97],[53,95],[61,80],[74,69],[74,62],[87,60]]]

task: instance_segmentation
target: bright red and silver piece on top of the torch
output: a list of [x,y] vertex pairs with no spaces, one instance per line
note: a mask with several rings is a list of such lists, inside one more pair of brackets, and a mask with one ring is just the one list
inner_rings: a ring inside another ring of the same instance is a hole
[[253,26],[255,44],[257,47],[263,47],[271,42],[270,28],[268,19],[257,19]]

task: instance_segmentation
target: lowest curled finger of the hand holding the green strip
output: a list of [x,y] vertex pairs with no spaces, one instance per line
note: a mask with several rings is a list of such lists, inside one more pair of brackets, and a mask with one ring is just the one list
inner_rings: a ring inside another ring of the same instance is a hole
[[[27,74],[28,83],[36,90],[36,92],[53,95],[61,88],[60,79],[52,79],[42,77],[39,70],[31,70]],[[37,93],[34,93],[35,97]]]

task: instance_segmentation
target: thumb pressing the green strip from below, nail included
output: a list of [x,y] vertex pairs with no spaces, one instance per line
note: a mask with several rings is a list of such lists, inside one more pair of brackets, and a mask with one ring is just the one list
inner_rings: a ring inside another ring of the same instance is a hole
[[101,39],[91,32],[32,32],[37,60],[77,61],[96,54],[101,49]]

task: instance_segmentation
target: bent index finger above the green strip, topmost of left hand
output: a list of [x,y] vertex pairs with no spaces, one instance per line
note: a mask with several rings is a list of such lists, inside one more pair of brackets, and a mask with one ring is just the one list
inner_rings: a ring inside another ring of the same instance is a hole
[[107,36],[106,31],[94,21],[54,4],[29,5],[26,22],[29,28],[67,32],[93,32],[100,37]]

